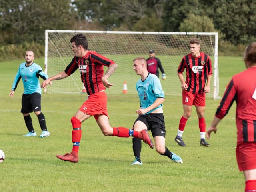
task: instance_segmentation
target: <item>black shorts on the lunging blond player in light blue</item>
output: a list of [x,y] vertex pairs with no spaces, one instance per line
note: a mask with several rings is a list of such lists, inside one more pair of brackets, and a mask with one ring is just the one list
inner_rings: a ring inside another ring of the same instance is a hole
[[147,126],[148,130],[151,130],[153,137],[163,136],[165,138],[164,114],[150,113],[146,115],[139,115],[135,122],[136,121],[143,122]]

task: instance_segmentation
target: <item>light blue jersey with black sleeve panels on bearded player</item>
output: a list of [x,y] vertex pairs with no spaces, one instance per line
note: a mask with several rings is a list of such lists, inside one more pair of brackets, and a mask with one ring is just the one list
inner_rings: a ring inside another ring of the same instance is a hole
[[16,90],[20,79],[22,79],[23,86],[24,86],[24,94],[31,94],[31,93],[42,93],[42,89],[39,83],[39,76],[46,80],[48,79],[47,74],[45,74],[42,68],[33,63],[30,66],[25,65],[26,62],[20,64],[18,72],[14,78],[14,82],[12,84],[12,90]]

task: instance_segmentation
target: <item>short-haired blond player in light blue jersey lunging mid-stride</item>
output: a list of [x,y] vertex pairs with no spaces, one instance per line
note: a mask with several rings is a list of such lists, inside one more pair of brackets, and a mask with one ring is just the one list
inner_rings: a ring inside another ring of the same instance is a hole
[[[147,70],[147,62],[143,57],[133,60],[133,70],[141,79],[136,84],[136,90],[140,98],[140,108],[136,110],[139,115],[135,120],[133,128],[136,131],[143,129],[151,130],[154,137],[156,151],[160,155],[168,156],[176,163],[183,163],[182,159],[170,152],[165,146],[165,124],[162,103],[164,102],[164,91],[158,77]],[[140,159],[141,140],[132,139],[133,152],[135,156],[132,165],[142,165]]]

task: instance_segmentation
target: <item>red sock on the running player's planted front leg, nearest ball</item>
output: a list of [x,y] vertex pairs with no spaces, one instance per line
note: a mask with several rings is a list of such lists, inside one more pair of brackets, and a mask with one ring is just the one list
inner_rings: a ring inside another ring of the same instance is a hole
[[72,151],[77,152],[79,150],[79,146],[80,146],[80,140],[82,137],[82,130],[81,130],[81,121],[78,120],[76,117],[72,117],[71,118],[71,123],[73,126],[73,130],[72,130],[72,142],[73,142],[73,148]]

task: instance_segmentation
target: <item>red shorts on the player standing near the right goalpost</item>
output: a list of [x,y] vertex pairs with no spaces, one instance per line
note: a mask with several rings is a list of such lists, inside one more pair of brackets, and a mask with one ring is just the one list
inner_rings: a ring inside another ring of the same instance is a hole
[[182,90],[182,104],[205,107],[205,93],[190,93]]

